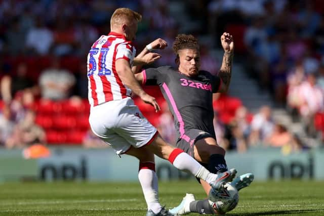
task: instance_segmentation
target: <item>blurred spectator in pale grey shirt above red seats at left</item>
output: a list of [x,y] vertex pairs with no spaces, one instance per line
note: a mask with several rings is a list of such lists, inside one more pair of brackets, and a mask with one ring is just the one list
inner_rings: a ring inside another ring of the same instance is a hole
[[74,75],[60,67],[59,58],[54,58],[52,67],[44,70],[39,76],[39,87],[44,99],[67,99],[70,97],[74,84]]

